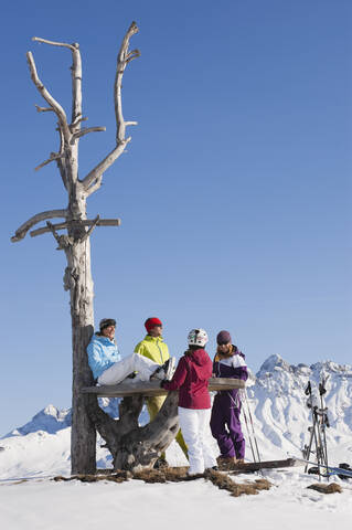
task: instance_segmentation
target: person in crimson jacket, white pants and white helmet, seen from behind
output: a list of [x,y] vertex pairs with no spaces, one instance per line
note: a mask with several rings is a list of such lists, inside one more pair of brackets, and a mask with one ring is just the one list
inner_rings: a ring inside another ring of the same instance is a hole
[[207,335],[204,329],[192,329],[189,349],[181,357],[171,381],[162,381],[166,390],[179,390],[179,421],[189,448],[189,475],[216,468],[210,432],[211,398],[207,383],[213,363],[204,350]]

